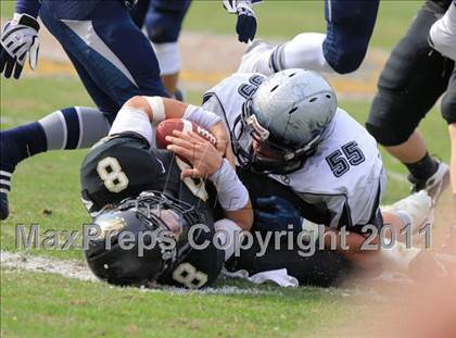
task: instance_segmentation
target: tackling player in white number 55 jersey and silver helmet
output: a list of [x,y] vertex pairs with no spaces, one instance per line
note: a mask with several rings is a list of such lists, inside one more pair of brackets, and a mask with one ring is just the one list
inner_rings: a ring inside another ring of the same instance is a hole
[[[430,214],[431,199],[422,191],[380,212],[385,174],[377,143],[337,107],[334,91],[319,74],[297,68],[269,77],[236,73],[204,95],[203,107],[224,118],[238,165],[267,174],[300,196],[303,227],[319,224],[335,234],[344,227],[349,249],[338,249],[355,266],[375,268],[387,260],[408,268],[417,250],[400,256],[398,247],[362,252],[370,234],[363,227],[409,224],[415,234]],[[371,243],[378,241],[377,236]]]

